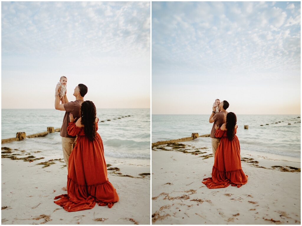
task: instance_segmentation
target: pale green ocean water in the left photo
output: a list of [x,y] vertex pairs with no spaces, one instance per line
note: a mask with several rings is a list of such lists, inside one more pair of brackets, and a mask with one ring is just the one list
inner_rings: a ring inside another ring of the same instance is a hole
[[[65,111],[55,109],[2,109],[1,138],[16,137],[17,132],[31,135],[61,128]],[[124,117],[121,116],[128,116]],[[104,143],[105,156],[114,158],[150,159],[150,109],[97,109],[98,133]],[[121,119],[117,119],[120,117]],[[116,120],[114,120],[114,118]],[[106,121],[111,119],[111,121]],[[101,123],[104,120],[104,123]],[[41,151],[36,157],[63,158],[59,132],[45,137],[26,138],[3,144],[2,147]]]

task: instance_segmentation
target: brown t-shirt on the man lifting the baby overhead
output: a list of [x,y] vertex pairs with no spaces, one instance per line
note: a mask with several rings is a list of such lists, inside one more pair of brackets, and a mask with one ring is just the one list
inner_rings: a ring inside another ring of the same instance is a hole
[[66,112],[65,112],[65,115],[63,118],[63,124],[61,127],[61,132],[60,132],[61,137],[76,138],[76,136],[70,136],[67,133],[68,123],[70,122],[69,113],[72,113],[73,118],[81,117],[81,105],[82,105],[83,101],[84,100],[76,100],[76,101],[64,103],[63,106],[64,106]]

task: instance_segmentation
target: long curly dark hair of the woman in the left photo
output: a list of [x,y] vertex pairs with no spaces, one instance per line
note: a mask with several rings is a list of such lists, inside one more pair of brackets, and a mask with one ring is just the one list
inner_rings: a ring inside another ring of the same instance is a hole
[[88,137],[90,141],[95,140],[96,136],[96,109],[95,105],[92,101],[86,100],[81,105],[81,124],[84,125],[85,135]]

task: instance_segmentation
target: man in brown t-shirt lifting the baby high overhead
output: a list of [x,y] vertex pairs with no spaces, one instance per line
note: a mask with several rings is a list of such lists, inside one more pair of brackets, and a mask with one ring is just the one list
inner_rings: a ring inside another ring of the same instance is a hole
[[[76,136],[70,136],[67,133],[67,127],[69,123],[69,113],[71,113],[74,118],[81,117],[81,105],[84,101],[84,96],[87,93],[87,91],[88,91],[87,86],[85,86],[84,84],[79,84],[76,86],[73,93],[73,96],[76,97],[75,101],[69,102],[66,93],[64,96],[65,103],[60,104],[59,97],[56,97],[55,99],[55,109],[65,111],[60,136],[62,137],[63,157],[67,166],[67,171],[68,171],[69,155],[72,151],[73,145],[76,144]],[[66,191],[67,187],[63,187],[62,190]]]

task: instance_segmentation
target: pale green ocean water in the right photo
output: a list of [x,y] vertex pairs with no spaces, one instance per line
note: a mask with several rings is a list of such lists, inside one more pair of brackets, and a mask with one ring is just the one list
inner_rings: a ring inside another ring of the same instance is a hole
[[[190,137],[193,132],[209,134],[213,126],[209,117],[152,115],[152,142]],[[240,148],[300,158],[301,120],[297,117],[300,115],[237,115]],[[249,129],[244,129],[244,125],[249,125]],[[202,139],[211,148],[210,137]]]

